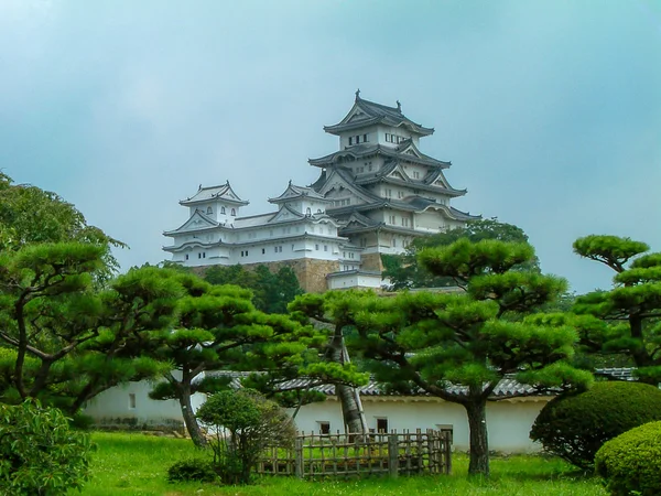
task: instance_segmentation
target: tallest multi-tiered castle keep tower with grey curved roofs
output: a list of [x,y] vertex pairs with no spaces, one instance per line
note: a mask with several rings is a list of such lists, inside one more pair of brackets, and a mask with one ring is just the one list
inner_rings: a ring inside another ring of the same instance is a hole
[[356,91],[345,118],[324,130],[339,138],[339,150],[308,161],[322,169],[311,187],[333,202],[326,212],[344,223],[339,234],[364,248],[364,270],[381,270],[381,254],[400,254],[415,237],[479,218],[451,206],[466,190],[445,179],[449,162],[420,151],[434,129],[404,116],[399,101],[388,107]]

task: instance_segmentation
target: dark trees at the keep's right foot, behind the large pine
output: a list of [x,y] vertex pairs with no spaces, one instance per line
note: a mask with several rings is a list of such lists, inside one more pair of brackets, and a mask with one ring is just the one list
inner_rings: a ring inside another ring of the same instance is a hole
[[[473,220],[465,227],[456,227],[433,236],[415,238],[401,255],[383,255],[383,278],[389,279],[393,291],[412,288],[443,288],[454,284],[446,276],[429,271],[419,262],[418,255],[425,248],[452,245],[466,238],[473,242],[484,239],[498,241],[528,242],[528,236],[520,227],[500,223],[496,218]],[[539,271],[539,260],[533,256],[522,263],[525,270]]]

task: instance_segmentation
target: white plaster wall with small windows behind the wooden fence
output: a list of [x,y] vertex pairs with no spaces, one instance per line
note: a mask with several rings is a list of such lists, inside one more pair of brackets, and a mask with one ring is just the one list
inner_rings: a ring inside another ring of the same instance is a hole
[[[454,449],[468,451],[469,431],[466,410],[456,403],[425,398],[423,401],[401,401],[384,397],[362,397],[362,408],[368,427],[376,429],[377,418],[387,418],[388,428],[398,431],[409,429],[437,429],[452,425]],[[489,402],[487,425],[489,450],[506,453],[528,453],[541,449],[528,434],[538,413],[548,399]],[[296,416],[299,430],[318,432],[319,421],[330,422],[330,431],[344,430],[342,409],[337,400],[329,398],[323,403],[306,405]]]

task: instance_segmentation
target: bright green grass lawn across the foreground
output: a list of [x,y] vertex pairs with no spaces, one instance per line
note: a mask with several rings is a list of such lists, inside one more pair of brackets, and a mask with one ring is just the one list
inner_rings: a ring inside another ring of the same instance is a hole
[[[98,445],[93,459],[93,479],[84,495],[153,496],[289,496],[289,495],[520,495],[520,496],[606,496],[599,481],[573,473],[564,462],[541,456],[511,456],[491,460],[491,478],[468,478],[468,459],[453,456],[451,476],[370,478],[365,481],[307,482],[293,477],[263,478],[254,486],[220,487],[212,484],[169,484],[167,467],[195,455],[188,440],[143,434],[95,433]],[[71,493],[72,495],[78,493]]]

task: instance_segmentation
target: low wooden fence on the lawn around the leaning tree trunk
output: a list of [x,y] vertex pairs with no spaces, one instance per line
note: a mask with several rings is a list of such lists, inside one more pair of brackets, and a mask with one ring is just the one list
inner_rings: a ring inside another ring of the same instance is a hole
[[304,434],[290,450],[269,449],[257,472],[296,477],[364,476],[388,474],[449,474],[449,432],[391,432],[369,434]]

